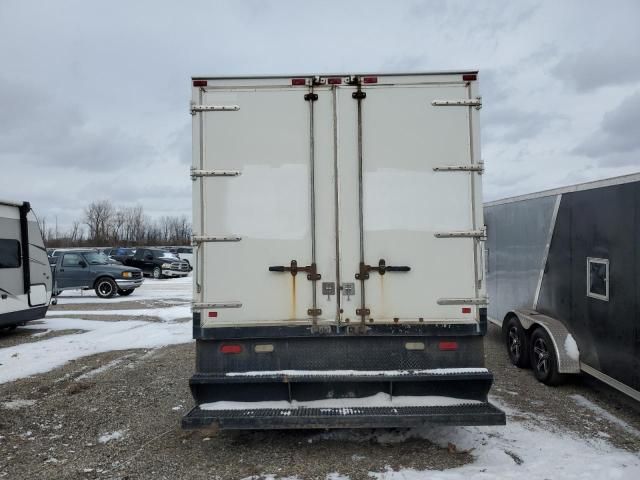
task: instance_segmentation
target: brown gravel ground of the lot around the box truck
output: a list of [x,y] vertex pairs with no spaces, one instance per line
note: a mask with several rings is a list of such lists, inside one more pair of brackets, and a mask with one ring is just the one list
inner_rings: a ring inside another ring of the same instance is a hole
[[[105,320],[108,309],[125,306],[150,307],[127,301],[73,305],[72,310],[105,310],[100,316]],[[1,336],[0,348],[51,335],[34,333],[19,329]],[[337,472],[345,477],[329,478],[361,479],[370,478],[369,472],[446,470],[474,460],[473,452],[456,447],[453,428],[440,429],[433,442],[411,431],[183,432],[180,417],[192,405],[187,382],[193,358],[192,343],[112,351],[1,384],[0,477],[324,479]],[[486,339],[486,358],[496,378],[492,396],[507,409],[510,424],[537,422],[541,428],[640,451],[640,412],[621,395],[581,379],[553,389],[541,385],[531,372],[509,364],[495,327]],[[599,415],[597,406],[615,417]],[[500,436],[499,428],[487,429],[479,443]],[[505,453],[515,466],[522,462],[517,454]]]

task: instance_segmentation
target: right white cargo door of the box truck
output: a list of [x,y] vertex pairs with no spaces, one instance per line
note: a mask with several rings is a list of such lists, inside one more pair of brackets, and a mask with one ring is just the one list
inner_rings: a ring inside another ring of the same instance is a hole
[[365,87],[360,115],[355,88],[341,90],[341,276],[355,283],[352,295],[342,296],[343,319],[473,321],[475,306],[442,303],[477,296],[476,239],[437,235],[479,227],[472,208],[478,174],[434,171],[471,164],[470,108],[432,105],[467,98],[468,89]]

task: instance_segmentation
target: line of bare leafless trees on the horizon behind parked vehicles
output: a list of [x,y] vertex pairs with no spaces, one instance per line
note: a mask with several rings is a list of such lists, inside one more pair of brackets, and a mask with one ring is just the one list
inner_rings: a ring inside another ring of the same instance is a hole
[[59,231],[45,217],[38,220],[47,247],[189,245],[191,222],[186,215],[151,218],[141,205],[115,206],[91,202],[81,219]]

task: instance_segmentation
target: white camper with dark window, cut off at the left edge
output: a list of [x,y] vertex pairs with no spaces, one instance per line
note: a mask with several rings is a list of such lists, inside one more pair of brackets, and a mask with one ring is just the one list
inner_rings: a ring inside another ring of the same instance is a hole
[[51,283],[47,252],[31,206],[0,200],[0,328],[43,318]]

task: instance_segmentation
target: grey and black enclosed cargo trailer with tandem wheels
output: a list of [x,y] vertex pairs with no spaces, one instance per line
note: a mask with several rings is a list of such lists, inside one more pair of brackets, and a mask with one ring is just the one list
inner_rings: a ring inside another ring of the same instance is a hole
[[489,318],[511,361],[640,401],[640,174],[485,204]]

